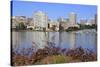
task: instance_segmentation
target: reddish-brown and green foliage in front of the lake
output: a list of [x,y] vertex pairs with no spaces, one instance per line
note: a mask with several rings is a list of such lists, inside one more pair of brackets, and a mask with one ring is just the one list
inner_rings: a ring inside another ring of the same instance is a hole
[[89,49],[83,49],[82,47],[75,49],[61,49],[60,47],[49,46],[44,49],[38,49],[36,52],[33,50],[34,48],[28,48],[28,50],[22,50],[21,53],[12,52],[12,65],[22,66],[97,60],[96,53]]

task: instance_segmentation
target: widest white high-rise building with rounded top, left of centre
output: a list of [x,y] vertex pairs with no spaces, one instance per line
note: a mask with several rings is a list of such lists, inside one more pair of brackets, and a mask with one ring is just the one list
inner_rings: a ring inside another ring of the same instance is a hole
[[47,29],[48,17],[44,12],[42,11],[35,12],[33,20],[34,20],[34,26],[37,30]]

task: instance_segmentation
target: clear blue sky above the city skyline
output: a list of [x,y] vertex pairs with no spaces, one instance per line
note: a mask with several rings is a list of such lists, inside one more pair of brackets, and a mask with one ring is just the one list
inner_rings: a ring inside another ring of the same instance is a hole
[[45,3],[30,1],[12,1],[12,16],[33,17],[34,12],[41,10],[45,12],[49,19],[57,20],[59,17],[68,18],[71,12],[77,14],[77,22],[80,19],[92,19],[97,14],[95,5]]

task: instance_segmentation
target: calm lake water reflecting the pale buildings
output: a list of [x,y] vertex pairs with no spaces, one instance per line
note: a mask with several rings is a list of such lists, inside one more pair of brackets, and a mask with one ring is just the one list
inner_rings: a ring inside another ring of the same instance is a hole
[[77,32],[32,32],[21,31],[12,32],[13,50],[35,47],[42,49],[49,45],[47,42],[54,43],[56,47],[74,49],[77,47],[97,50],[97,33],[93,31]]

